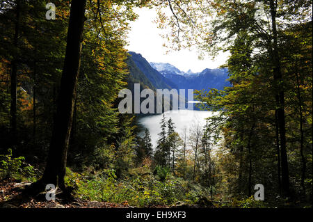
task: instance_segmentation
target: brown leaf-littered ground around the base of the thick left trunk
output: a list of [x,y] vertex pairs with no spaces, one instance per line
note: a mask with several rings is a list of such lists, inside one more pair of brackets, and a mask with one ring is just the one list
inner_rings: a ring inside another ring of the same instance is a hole
[[[28,182],[14,182],[13,180],[0,181],[0,208],[127,208],[131,207],[127,202],[122,204],[81,200],[72,198],[65,200],[45,200],[45,195],[26,196],[22,191],[29,185]],[[155,206],[166,207],[166,206]]]

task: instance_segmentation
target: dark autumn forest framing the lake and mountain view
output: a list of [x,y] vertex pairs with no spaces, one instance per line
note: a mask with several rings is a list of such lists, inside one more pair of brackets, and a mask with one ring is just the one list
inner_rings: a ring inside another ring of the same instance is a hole
[[[159,114],[156,148],[118,110],[171,87],[127,51],[142,8],[168,50],[230,52],[194,92],[214,115]],[[312,1],[0,0],[0,207],[312,208]]]

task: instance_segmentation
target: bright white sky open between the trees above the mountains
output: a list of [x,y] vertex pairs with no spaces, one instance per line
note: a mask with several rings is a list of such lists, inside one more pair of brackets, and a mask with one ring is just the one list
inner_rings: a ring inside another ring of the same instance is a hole
[[199,60],[196,50],[182,49],[166,54],[167,49],[162,46],[165,40],[160,36],[162,31],[153,22],[157,17],[155,10],[141,8],[136,10],[136,13],[139,17],[130,24],[129,45],[126,48],[140,53],[148,62],[170,63],[184,72],[189,69],[193,72],[201,72],[205,68],[218,68],[225,63],[227,54],[220,54],[214,61],[209,56],[206,56],[204,60]]

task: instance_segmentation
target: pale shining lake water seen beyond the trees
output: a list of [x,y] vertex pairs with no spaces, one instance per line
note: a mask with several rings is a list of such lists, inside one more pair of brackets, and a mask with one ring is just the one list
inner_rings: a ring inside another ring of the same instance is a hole
[[[158,134],[161,132],[160,121],[163,114],[154,115],[154,116],[146,116],[140,118],[138,120],[143,127],[149,129],[151,134],[152,145],[155,148],[157,146],[157,140],[159,138]],[[205,125],[205,118],[209,116],[213,116],[213,112],[211,111],[195,111],[195,110],[175,110],[175,111],[167,111],[165,113],[166,119],[172,118],[172,122],[175,125],[175,131],[179,133],[182,137],[184,128],[187,128],[187,135],[189,132],[189,128],[199,122],[200,125]]]

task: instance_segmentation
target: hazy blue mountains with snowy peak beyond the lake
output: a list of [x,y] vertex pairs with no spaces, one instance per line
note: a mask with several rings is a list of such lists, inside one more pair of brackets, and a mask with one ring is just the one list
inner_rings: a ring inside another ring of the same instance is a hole
[[[154,90],[154,101],[157,101],[157,89],[176,89],[178,93],[179,89],[184,89],[185,95],[180,95],[179,100],[186,102],[188,89],[217,88],[221,90],[225,86],[230,86],[230,83],[226,80],[228,78],[227,69],[205,69],[198,73],[193,73],[191,70],[182,72],[169,63],[148,63],[141,54],[136,54],[134,51],[129,51],[127,65],[129,69],[129,77],[127,78],[129,89],[134,93],[134,84],[141,84],[141,90],[150,88]],[[145,98],[141,98],[141,102],[143,100]],[[172,101],[169,97],[165,97],[164,103],[170,104],[170,107],[172,107]],[[156,105],[155,102],[154,104]]]

